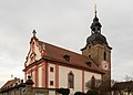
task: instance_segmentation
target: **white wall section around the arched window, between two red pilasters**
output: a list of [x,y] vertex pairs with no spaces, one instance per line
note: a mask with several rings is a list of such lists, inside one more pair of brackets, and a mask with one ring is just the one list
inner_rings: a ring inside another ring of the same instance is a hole
[[68,74],[70,72],[74,74],[74,88],[70,88],[70,93],[82,92],[82,71],[61,65],[59,66],[59,87],[68,88]]

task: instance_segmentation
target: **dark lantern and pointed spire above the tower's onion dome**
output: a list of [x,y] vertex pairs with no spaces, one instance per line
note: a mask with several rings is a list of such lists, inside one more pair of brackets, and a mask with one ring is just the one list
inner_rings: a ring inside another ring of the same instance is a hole
[[91,32],[92,32],[92,34],[93,33],[101,33],[101,28],[102,28],[102,25],[101,25],[101,23],[99,22],[99,19],[98,19],[98,17],[96,17],[96,13],[98,13],[98,11],[96,11],[96,4],[94,6],[94,14],[95,14],[95,17],[94,17],[94,19],[93,19],[93,23],[91,24]]

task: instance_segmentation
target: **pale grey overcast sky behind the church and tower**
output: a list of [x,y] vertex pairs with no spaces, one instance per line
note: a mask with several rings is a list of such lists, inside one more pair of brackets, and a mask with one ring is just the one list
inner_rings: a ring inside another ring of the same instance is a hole
[[23,78],[32,30],[44,42],[81,53],[94,4],[112,50],[112,78],[133,77],[133,0],[0,0],[0,86]]

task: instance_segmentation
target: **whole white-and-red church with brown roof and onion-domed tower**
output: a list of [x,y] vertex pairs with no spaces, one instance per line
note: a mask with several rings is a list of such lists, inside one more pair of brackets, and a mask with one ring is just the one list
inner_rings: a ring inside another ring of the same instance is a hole
[[88,92],[88,83],[94,77],[95,86],[111,88],[111,50],[101,33],[101,23],[95,15],[90,27],[91,35],[81,49],[81,54],[40,41],[33,30],[30,50],[24,63],[24,80],[30,75],[33,87],[70,88],[70,94]]

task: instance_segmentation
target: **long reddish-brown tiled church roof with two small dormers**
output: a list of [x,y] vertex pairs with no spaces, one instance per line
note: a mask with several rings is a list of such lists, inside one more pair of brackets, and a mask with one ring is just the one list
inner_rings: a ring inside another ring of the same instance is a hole
[[[69,65],[75,65],[75,66],[84,67],[84,68],[94,71],[98,73],[103,73],[103,71],[101,71],[95,65],[94,61],[92,61],[91,59],[86,56],[83,56],[75,52],[72,52],[72,51],[69,51],[69,50],[42,42],[42,41],[39,41],[39,44],[44,45],[47,57],[68,63]],[[68,59],[70,60],[68,61],[64,56],[68,56]],[[91,62],[91,66],[86,64],[88,62]]]

